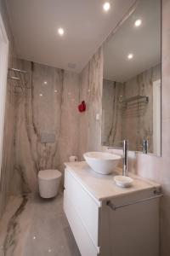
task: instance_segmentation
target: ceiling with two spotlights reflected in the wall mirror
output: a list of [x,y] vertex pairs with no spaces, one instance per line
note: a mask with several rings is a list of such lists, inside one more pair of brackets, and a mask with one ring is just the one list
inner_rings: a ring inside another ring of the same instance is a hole
[[[142,26],[134,21],[142,20]],[[133,59],[127,60],[127,54]],[[104,78],[126,82],[161,62],[161,0],[141,0],[104,50]]]

